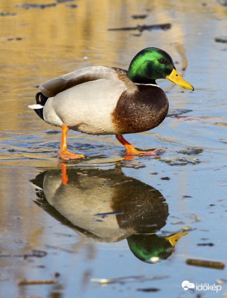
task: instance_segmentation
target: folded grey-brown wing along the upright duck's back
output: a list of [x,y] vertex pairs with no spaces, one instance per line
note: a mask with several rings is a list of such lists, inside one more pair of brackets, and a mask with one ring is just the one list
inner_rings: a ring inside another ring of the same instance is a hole
[[108,80],[119,79],[119,74],[121,74],[121,77],[127,77],[126,71],[121,69],[105,66],[93,66],[48,80],[40,84],[38,87],[46,97],[54,97],[64,90],[88,81],[94,81],[101,78]]

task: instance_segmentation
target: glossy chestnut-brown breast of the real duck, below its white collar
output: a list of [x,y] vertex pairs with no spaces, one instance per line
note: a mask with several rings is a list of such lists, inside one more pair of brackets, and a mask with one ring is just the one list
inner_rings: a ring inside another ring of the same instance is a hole
[[123,92],[112,113],[119,134],[139,133],[158,126],[168,112],[168,100],[158,86],[138,85],[133,94]]

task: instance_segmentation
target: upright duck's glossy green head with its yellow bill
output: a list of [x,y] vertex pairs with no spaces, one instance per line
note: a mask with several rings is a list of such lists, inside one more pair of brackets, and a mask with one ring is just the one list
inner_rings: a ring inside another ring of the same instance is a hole
[[132,60],[127,72],[134,83],[152,84],[155,79],[167,78],[182,88],[194,90],[176,71],[172,58],[158,48],[146,48]]

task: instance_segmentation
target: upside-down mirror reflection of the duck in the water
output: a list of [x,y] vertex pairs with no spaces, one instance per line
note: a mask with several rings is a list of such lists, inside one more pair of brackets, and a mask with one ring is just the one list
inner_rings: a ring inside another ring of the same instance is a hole
[[136,257],[151,262],[167,258],[187,233],[157,236],[166,223],[168,205],[161,193],[114,169],[68,168],[45,171],[31,182],[36,204],[76,232],[102,242],[127,238]]

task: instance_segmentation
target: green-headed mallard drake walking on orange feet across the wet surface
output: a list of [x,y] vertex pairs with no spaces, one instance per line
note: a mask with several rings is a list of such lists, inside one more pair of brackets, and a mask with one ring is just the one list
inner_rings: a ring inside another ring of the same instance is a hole
[[122,135],[153,129],[166,117],[168,100],[156,84],[167,78],[194,90],[176,71],[172,58],[158,48],[140,51],[128,71],[93,66],[48,80],[38,87],[36,104],[29,106],[44,121],[62,128],[63,159],[84,157],[67,150],[69,129],[91,135],[116,135],[129,155],[155,155],[159,149],[139,151]]

